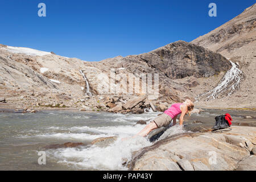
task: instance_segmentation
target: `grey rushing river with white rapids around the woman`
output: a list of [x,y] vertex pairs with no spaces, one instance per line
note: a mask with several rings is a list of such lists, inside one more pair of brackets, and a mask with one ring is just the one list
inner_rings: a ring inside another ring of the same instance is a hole
[[[224,112],[224,113],[223,113]],[[255,122],[255,111],[205,110],[193,114],[187,121],[207,120],[214,125],[214,117],[229,112],[233,122]],[[130,160],[134,151],[150,146],[146,138],[122,141],[143,129],[138,120],[153,119],[159,113],[113,114],[82,111],[39,111],[38,113],[0,112],[0,170],[126,170],[123,159]],[[147,123],[150,122],[147,121]],[[177,125],[160,138],[183,133]],[[117,136],[105,147],[92,145],[93,139]],[[50,144],[82,142],[75,148],[43,149]],[[46,165],[38,164],[38,152],[46,152]]]

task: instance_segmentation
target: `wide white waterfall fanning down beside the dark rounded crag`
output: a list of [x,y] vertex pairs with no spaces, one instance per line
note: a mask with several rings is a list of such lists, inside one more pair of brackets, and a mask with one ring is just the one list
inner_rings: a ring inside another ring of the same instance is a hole
[[196,97],[197,98],[205,98],[205,100],[214,100],[219,96],[230,96],[240,85],[242,71],[238,68],[236,64],[230,61],[232,64],[232,68],[229,69],[228,72],[221,79],[220,83],[216,86],[216,88],[209,90],[207,93],[203,93]]

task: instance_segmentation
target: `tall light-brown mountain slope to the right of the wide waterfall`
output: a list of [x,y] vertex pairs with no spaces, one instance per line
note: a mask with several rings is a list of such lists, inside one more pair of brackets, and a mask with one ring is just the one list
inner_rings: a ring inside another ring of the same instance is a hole
[[225,105],[228,107],[256,107],[256,4],[215,30],[191,43],[203,46],[236,63],[242,71],[239,88],[228,99],[201,101],[198,105]]

